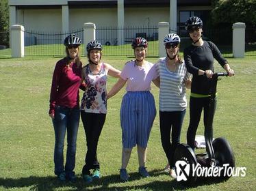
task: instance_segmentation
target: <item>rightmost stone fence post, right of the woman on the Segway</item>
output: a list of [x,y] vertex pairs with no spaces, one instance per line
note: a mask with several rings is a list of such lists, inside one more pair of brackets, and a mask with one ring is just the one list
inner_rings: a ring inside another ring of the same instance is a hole
[[234,23],[233,29],[233,57],[244,58],[245,52],[245,23]]

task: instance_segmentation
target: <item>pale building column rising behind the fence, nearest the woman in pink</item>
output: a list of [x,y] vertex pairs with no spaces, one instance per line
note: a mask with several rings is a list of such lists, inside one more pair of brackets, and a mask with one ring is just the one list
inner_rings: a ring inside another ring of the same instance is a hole
[[124,44],[124,26],[125,26],[125,3],[124,0],[117,1],[117,24],[118,24],[118,31],[117,31],[117,42],[118,45]]

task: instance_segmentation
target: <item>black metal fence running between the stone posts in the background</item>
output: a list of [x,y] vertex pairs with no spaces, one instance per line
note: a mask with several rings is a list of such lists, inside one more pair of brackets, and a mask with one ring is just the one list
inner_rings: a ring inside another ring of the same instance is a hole
[[[123,44],[118,45],[118,32],[123,31]],[[170,29],[170,33],[174,31]],[[178,30],[178,35],[181,36],[181,52],[183,48],[191,44],[188,34],[185,37],[184,31]],[[66,35],[69,33],[76,33],[82,40],[82,46],[80,53],[85,55],[84,44],[84,29],[75,29],[66,33],[42,33],[39,31],[24,31],[25,42],[25,56],[64,56],[65,50],[63,41]],[[179,34],[182,33],[182,34]],[[204,29],[203,35],[205,40],[214,42],[221,53],[225,57],[232,57],[232,29]],[[5,42],[9,41],[9,32],[0,32],[2,39]],[[106,56],[127,56],[133,57],[133,50],[131,49],[131,41],[136,37],[143,37],[149,41],[149,48],[147,56],[158,56],[158,27],[125,27],[124,29],[118,29],[117,27],[98,27],[96,29],[96,39],[103,44],[103,55]],[[256,29],[246,28],[246,56],[256,55]],[[162,40],[160,41],[162,42]],[[6,44],[6,45],[5,45]],[[1,42],[0,45],[8,48],[9,44]]]

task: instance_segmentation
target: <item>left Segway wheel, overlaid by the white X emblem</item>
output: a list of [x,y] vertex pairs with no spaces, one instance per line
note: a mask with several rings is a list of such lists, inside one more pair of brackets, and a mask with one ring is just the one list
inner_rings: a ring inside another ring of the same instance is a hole
[[174,158],[177,181],[183,185],[193,184],[196,181],[196,175],[193,176],[192,166],[197,164],[193,149],[189,145],[180,144],[177,146]]

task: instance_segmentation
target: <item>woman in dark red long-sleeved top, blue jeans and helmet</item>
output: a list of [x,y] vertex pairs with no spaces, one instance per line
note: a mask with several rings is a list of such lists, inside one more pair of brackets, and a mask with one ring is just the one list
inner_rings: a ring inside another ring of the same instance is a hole
[[[57,61],[53,72],[49,116],[55,132],[54,173],[60,181],[75,181],[75,152],[79,126],[79,87],[81,85],[81,61],[75,34],[64,40],[66,57]],[[67,131],[66,164],[64,166],[64,139]]]

